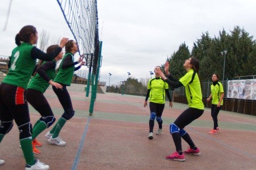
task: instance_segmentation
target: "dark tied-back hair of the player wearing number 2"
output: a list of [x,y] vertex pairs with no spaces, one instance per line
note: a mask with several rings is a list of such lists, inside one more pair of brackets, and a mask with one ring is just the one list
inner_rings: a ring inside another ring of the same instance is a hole
[[29,43],[30,42],[30,35],[36,34],[36,28],[34,26],[24,26],[21,28],[18,34],[15,36],[15,44],[18,46],[21,42]]

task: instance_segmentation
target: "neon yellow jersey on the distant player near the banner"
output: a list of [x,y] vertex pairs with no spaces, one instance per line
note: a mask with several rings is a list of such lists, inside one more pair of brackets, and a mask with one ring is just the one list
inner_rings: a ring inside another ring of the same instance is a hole
[[[220,81],[216,85],[210,85],[210,92],[212,93],[212,104],[217,105],[220,101],[221,93],[224,93],[223,86]],[[221,101],[221,106],[223,105],[223,100]]]

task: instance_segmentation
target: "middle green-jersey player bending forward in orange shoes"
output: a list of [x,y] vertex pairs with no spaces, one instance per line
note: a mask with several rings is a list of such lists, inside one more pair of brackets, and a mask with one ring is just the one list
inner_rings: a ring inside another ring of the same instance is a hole
[[[50,45],[46,52],[50,53],[58,47],[59,45]],[[32,77],[27,87],[27,101],[42,116],[40,119],[38,119],[38,121],[36,121],[33,127],[32,146],[34,154],[40,154],[40,151],[36,148],[36,146],[42,146],[42,143],[36,140],[36,136],[55,122],[52,109],[43,93],[46,92],[46,89],[50,84],[55,86],[55,88],[62,88],[61,84],[53,81],[56,76],[56,63],[62,58],[63,52],[61,51],[59,55],[57,55],[55,59],[51,61],[41,60],[38,68],[36,69],[36,75]]]

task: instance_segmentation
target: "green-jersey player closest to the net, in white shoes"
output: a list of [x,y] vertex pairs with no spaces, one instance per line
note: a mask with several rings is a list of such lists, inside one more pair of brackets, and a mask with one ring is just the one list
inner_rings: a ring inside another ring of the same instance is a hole
[[[65,146],[66,142],[60,138],[59,133],[65,123],[75,114],[67,86],[71,85],[74,72],[80,69],[81,65],[85,64],[85,62],[82,61],[82,57],[79,57],[79,60],[74,62],[74,55],[78,50],[77,43],[73,40],[69,40],[65,46],[65,55],[60,63],[59,71],[54,79],[54,81],[61,84],[63,88],[57,89],[55,86],[52,86],[53,91],[59,98],[61,106],[64,109],[64,113],[58,119],[55,126],[53,126],[52,130],[47,132],[46,138],[48,138],[50,144],[56,144],[57,146]],[[75,67],[75,65],[79,63],[79,67]]]

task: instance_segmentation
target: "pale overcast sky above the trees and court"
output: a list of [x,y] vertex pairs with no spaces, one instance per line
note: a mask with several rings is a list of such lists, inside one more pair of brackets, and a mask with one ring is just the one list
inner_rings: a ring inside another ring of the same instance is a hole
[[[100,81],[109,85],[131,77],[150,78],[156,65],[185,43],[193,43],[204,32],[210,37],[219,31],[230,34],[235,26],[256,36],[255,0],[99,0],[98,23],[102,41]],[[15,35],[27,24],[38,32],[74,39],[65,23],[60,7],[53,0],[13,0],[6,30],[9,1],[0,6],[0,55],[9,56],[16,46]],[[88,70],[84,67],[84,73]]]

